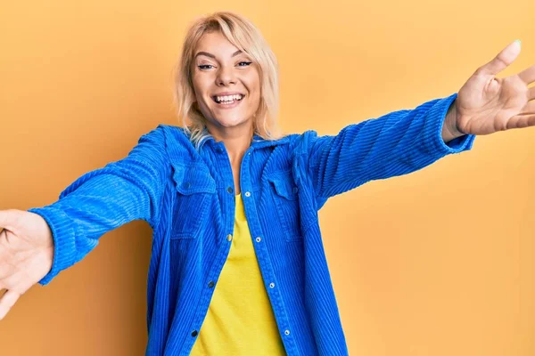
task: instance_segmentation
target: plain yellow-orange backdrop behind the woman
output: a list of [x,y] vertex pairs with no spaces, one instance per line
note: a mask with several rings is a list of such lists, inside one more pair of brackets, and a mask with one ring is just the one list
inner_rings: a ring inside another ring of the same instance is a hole
[[[535,64],[535,3],[2,1],[0,209],[55,201],[78,176],[177,125],[171,70],[188,24],[240,12],[281,68],[285,132],[344,125],[457,93],[506,44]],[[535,128],[368,182],[320,211],[350,354],[535,354]],[[142,355],[152,231],[142,221],[0,321],[2,355]]]

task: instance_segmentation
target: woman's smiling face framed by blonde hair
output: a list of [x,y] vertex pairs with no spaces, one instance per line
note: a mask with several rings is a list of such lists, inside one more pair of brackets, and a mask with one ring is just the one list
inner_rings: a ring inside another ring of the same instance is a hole
[[220,32],[204,34],[194,56],[195,100],[209,130],[251,127],[260,101],[258,65]]

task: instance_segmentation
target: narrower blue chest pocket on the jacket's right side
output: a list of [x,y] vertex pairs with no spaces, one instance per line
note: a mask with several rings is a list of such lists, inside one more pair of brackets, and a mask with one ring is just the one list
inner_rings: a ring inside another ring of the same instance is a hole
[[302,239],[298,187],[293,182],[292,174],[289,172],[270,174],[268,182],[273,192],[276,215],[286,240]]

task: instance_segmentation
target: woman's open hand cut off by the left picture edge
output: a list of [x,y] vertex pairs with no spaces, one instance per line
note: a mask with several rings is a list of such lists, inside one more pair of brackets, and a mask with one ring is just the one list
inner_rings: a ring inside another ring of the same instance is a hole
[[22,210],[0,210],[0,320],[29,287],[51,270],[53,236],[45,219]]

